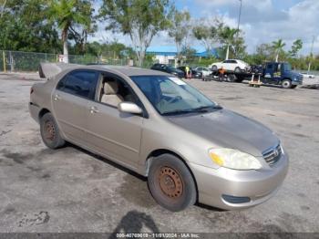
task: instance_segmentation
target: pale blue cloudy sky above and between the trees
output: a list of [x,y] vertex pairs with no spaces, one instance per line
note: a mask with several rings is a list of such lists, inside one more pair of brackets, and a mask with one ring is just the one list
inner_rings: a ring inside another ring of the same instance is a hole
[[[180,10],[188,10],[193,21],[201,18],[207,21],[222,17],[225,24],[237,27],[240,0],[176,0]],[[319,54],[319,0],[242,0],[240,29],[244,32],[247,51],[253,53],[262,43],[271,43],[282,38],[289,50],[295,39],[302,39],[301,54],[310,52],[314,37],[314,54]],[[118,42],[131,45],[129,37],[105,32],[99,26],[92,40],[118,39]],[[166,32],[155,36],[151,46],[174,46],[174,41]],[[192,40],[191,45],[200,45]]]

